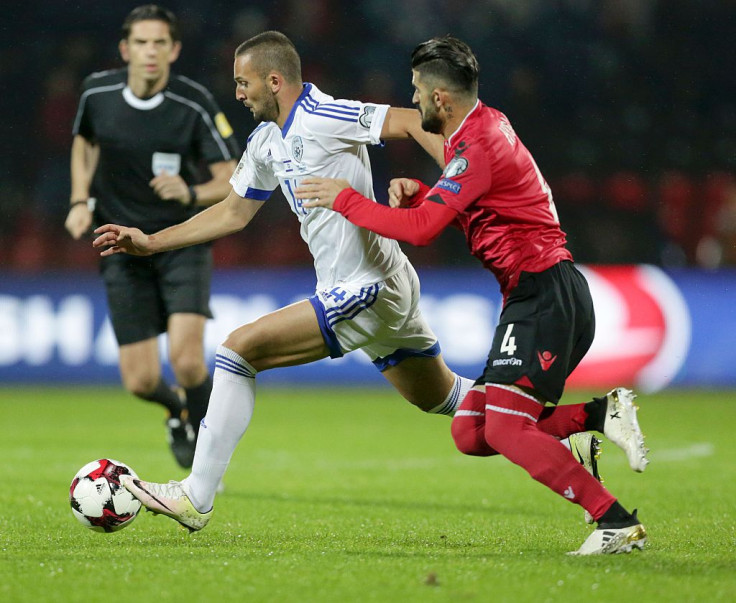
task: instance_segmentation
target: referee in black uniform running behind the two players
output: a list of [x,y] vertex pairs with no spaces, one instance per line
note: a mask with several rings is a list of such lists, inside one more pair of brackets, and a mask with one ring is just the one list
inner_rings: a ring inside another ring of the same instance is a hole
[[[209,91],[170,73],[181,50],[170,11],[134,9],[119,49],[127,68],[87,77],[74,121],[65,226],[75,239],[93,222],[156,231],[188,219],[227,196],[240,155]],[[208,245],[145,258],[117,254],[101,264],[123,385],[167,409],[169,444],[182,467],[192,464],[212,389],[203,341],[211,270]],[[161,374],[164,332],[176,388]]]

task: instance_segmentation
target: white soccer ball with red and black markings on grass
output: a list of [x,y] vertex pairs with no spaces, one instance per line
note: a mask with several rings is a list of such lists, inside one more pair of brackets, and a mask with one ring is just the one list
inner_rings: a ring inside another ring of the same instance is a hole
[[72,480],[69,504],[79,522],[96,532],[117,532],[133,523],[141,503],[120,484],[121,475],[138,477],[125,463],[99,459]]

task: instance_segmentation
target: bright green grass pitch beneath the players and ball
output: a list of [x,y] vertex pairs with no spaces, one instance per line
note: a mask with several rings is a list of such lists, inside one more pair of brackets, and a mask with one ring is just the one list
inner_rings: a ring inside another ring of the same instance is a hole
[[263,386],[205,530],[141,513],[95,533],[68,504],[88,461],[186,475],[163,413],[119,388],[3,388],[0,601],[733,601],[736,395],[639,402],[649,468],[604,442],[601,473],[649,546],[576,558],[579,507],[502,458],[462,456],[447,417],[388,388]]

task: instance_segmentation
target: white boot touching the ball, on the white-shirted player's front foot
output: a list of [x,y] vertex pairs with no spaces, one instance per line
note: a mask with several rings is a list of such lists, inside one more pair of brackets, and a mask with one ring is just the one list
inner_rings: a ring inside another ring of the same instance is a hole
[[212,509],[206,513],[197,511],[181,482],[172,480],[168,484],[156,484],[126,475],[121,477],[120,483],[141,501],[146,509],[156,515],[171,517],[190,532],[201,530],[212,517]]

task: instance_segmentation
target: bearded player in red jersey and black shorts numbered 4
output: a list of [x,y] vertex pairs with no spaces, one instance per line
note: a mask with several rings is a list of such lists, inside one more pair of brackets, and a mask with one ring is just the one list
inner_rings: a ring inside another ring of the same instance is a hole
[[473,255],[496,276],[504,305],[484,373],[453,420],[458,449],[501,454],[590,513],[597,529],[576,554],[641,549],[646,531],[636,511],[629,513],[559,441],[595,429],[624,449],[635,471],[648,462],[631,391],[557,406],[593,342],[595,317],[550,188],[507,117],[478,100],[478,62],[466,44],[451,36],[420,44],[412,74],[422,127],[445,139],[440,180],[432,187],[393,180],[391,207],[344,180],[304,179],[297,196],[309,200],[304,207],[333,209],[415,245],[429,244],[450,224],[463,230]]

